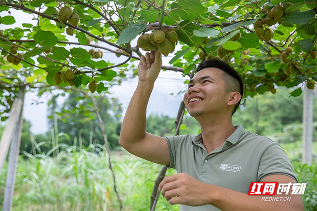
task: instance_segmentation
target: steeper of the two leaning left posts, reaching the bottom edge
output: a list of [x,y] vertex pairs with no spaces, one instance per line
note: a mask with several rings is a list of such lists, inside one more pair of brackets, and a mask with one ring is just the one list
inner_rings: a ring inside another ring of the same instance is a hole
[[18,101],[21,101],[21,106],[20,106],[21,109],[17,111],[18,113],[14,114],[14,115],[17,115],[19,118],[13,129],[13,136],[12,136],[12,141],[10,146],[8,170],[6,174],[6,183],[5,183],[5,191],[4,191],[4,198],[3,198],[3,211],[10,211],[12,207],[15,175],[16,175],[16,168],[17,168],[17,163],[19,158],[21,133],[22,133],[22,125],[23,125],[24,94],[25,94],[24,87],[20,88]]

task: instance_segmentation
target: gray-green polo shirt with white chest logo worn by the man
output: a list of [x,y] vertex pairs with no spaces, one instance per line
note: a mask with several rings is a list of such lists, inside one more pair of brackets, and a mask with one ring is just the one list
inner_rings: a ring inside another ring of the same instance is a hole
[[[283,174],[297,180],[291,162],[277,142],[255,133],[245,132],[241,125],[223,143],[222,148],[207,153],[202,134],[166,137],[170,168],[196,179],[242,193],[248,193],[251,182],[271,174]],[[180,211],[210,211],[216,207],[179,206]]]

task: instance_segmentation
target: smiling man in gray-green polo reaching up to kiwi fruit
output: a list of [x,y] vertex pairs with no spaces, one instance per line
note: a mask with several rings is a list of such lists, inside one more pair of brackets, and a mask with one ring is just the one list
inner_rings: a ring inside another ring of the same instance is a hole
[[224,62],[200,64],[184,95],[201,134],[162,138],[146,132],[146,108],[161,63],[158,51],[141,56],[139,83],[119,144],[140,158],[177,170],[160,183],[163,197],[170,204],[180,204],[182,211],[304,210],[301,195],[269,202],[262,201],[262,196],[248,196],[251,182],[295,183],[297,178],[276,142],[233,126],[231,116],[243,86],[240,76]]

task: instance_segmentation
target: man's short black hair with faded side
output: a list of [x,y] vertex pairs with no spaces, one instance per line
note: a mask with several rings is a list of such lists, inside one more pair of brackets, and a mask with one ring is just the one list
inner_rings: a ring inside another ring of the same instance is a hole
[[[241,95],[241,99],[243,97],[243,93],[244,93],[244,87],[243,87],[243,80],[241,78],[241,76],[239,75],[239,73],[233,69],[227,62],[223,61],[223,60],[219,60],[216,58],[212,58],[209,60],[204,60],[202,61],[196,69],[196,72],[199,72],[202,69],[205,68],[209,68],[209,67],[213,67],[213,68],[217,68],[222,70],[225,74],[224,74],[224,80],[230,83],[229,86],[227,87],[230,91],[235,91],[235,92],[239,92]],[[238,102],[238,104],[235,106],[235,108],[232,111],[232,115],[236,112],[237,108],[240,105],[240,101]]]

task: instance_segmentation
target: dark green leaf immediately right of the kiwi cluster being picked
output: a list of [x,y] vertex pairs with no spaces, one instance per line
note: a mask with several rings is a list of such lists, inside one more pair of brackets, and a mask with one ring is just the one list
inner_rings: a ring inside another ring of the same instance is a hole
[[176,33],[178,35],[178,39],[183,43],[187,44],[190,47],[193,47],[196,45],[201,45],[204,42],[205,38],[196,37],[193,33],[194,30],[200,29],[199,26],[196,26],[189,21],[182,21],[179,23],[179,26],[180,30],[176,30]]

